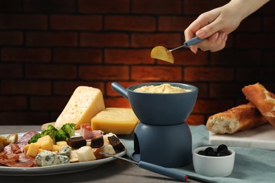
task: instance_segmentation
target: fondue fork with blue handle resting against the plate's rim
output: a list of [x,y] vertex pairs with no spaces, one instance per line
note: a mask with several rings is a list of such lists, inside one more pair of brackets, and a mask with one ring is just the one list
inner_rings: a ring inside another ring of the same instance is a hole
[[140,168],[144,168],[146,170],[156,172],[156,173],[161,174],[161,175],[165,175],[166,177],[171,177],[173,179],[178,179],[178,180],[181,180],[181,181],[186,181],[188,179],[187,175],[183,174],[182,172],[178,172],[176,170],[165,168],[165,167],[155,165],[155,164],[152,164],[152,163],[147,163],[147,162],[142,161],[142,160],[140,160],[140,162],[135,162],[133,160],[129,160],[127,158],[122,158],[120,156],[111,155],[109,153],[104,153],[104,152],[100,152],[100,153],[102,153],[106,156],[111,156],[111,157],[118,158],[118,159],[121,159],[121,160],[126,160],[130,163],[134,163],[135,165],[138,165]]

